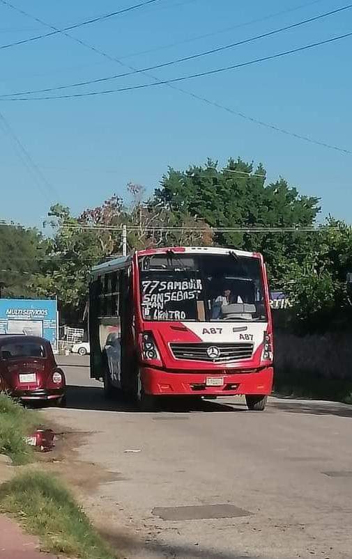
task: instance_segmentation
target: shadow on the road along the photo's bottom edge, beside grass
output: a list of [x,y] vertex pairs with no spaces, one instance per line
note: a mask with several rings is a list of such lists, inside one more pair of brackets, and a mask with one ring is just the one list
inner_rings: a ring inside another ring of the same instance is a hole
[[112,545],[116,553],[123,551],[136,553],[138,557],[148,557],[150,559],[162,559],[163,557],[179,558],[179,559],[260,559],[258,556],[240,556],[236,551],[222,552],[213,549],[202,549],[197,544],[197,535],[194,535],[194,545],[190,544],[162,544],[155,540],[141,540],[138,537],[132,537],[125,533],[116,534],[108,532],[107,530],[100,530],[102,537]]

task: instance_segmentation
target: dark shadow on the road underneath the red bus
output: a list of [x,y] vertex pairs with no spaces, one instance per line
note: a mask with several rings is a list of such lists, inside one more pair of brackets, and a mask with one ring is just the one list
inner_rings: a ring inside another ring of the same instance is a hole
[[[102,388],[98,383],[97,386],[68,385],[66,407],[91,411],[137,411],[137,405],[132,400],[123,397],[116,397],[114,400],[105,399]],[[162,397],[160,406],[153,413],[157,414],[160,411],[168,411],[175,414],[188,413],[190,411],[224,413],[245,410],[244,406],[232,407],[211,400],[191,400],[187,397]]]

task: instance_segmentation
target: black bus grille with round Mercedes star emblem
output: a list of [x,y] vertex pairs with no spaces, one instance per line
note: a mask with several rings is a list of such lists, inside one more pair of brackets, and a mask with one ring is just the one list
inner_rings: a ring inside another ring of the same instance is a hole
[[171,343],[175,359],[186,361],[207,361],[208,363],[227,363],[250,359],[253,353],[251,343]]

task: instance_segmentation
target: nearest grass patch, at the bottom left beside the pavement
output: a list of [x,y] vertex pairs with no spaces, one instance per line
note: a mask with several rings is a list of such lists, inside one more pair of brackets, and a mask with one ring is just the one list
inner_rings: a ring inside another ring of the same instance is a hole
[[116,559],[70,491],[45,473],[20,473],[0,487],[0,510],[40,537],[43,550],[80,559]]

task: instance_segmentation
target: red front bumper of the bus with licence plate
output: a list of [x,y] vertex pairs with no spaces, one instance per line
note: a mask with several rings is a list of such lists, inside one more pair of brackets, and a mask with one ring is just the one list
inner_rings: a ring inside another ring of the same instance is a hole
[[170,372],[142,367],[141,380],[145,393],[153,395],[268,395],[273,388],[273,367],[223,375],[218,371]]

